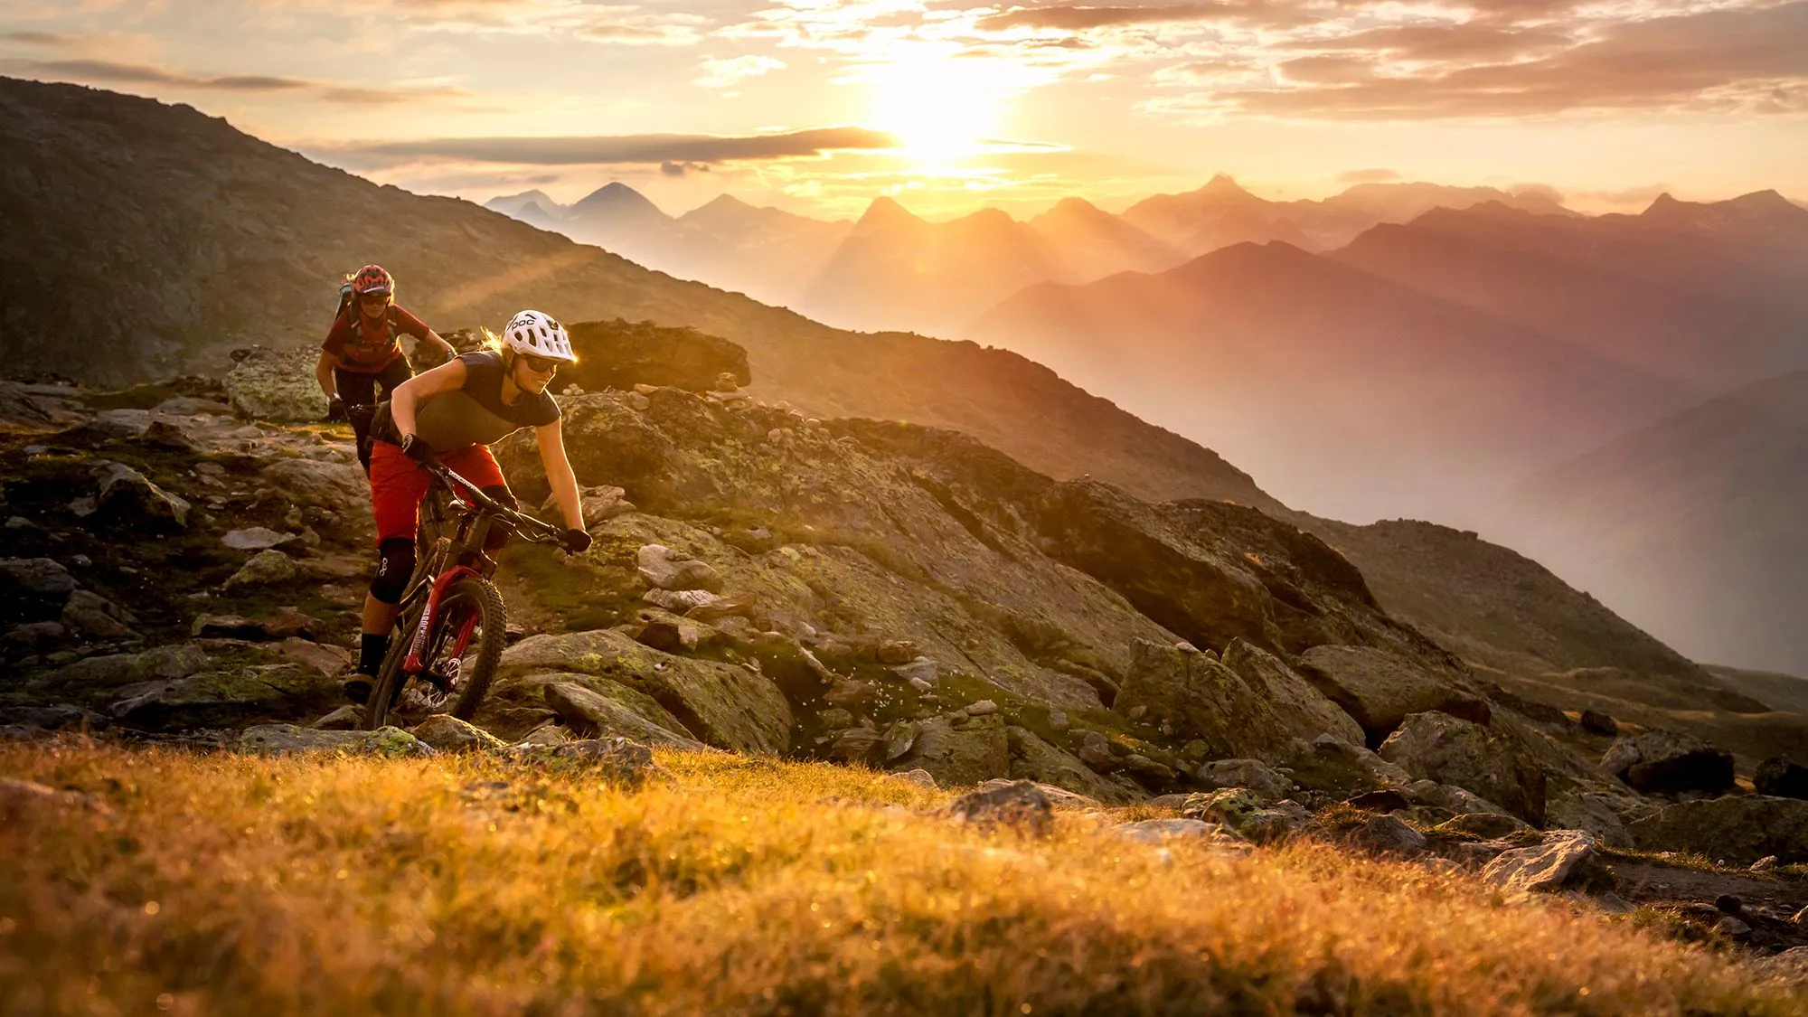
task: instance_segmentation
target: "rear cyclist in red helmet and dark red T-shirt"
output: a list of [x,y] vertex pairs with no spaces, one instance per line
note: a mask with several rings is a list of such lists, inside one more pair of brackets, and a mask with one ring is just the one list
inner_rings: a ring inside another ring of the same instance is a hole
[[401,337],[430,342],[450,358],[452,344],[427,328],[421,318],[396,304],[396,280],[380,264],[367,264],[351,279],[351,300],[340,308],[320,344],[315,378],[327,394],[327,420],[351,420],[358,438],[358,461],[371,472],[371,418],[347,414],[349,405],[372,405],[381,387],[383,398],[414,376],[414,366],[401,353]]

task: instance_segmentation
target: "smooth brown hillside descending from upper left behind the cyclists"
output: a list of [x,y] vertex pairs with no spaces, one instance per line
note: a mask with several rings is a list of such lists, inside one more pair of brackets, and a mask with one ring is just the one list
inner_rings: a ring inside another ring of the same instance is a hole
[[[741,344],[763,393],[814,413],[956,427],[1054,476],[1096,474],[1146,498],[1269,503],[1213,452],[1016,355],[828,329],[465,201],[309,163],[188,107],[0,80],[0,353],[13,378],[217,376],[240,346],[309,347],[340,273],[376,261],[439,331],[499,328],[524,306],[694,326]],[[49,340],[45,322],[67,340]]]

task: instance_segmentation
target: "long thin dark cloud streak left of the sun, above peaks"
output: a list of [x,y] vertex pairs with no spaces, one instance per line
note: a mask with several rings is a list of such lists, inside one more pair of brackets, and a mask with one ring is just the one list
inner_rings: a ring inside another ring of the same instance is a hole
[[709,134],[627,134],[613,138],[423,138],[331,147],[342,159],[396,165],[421,159],[541,166],[624,163],[730,163],[817,157],[848,148],[897,148],[899,139],[864,127],[821,127],[790,134],[720,138]]

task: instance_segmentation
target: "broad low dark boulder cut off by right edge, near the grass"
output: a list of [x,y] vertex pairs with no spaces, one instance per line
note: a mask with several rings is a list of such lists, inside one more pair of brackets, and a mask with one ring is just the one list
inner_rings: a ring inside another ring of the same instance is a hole
[[1678,802],[1627,829],[1640,851],[1687,851],[1734,865],[1766,854],[1783,865],[1808,861],[1808,802],[1801,798],[1728,794]]

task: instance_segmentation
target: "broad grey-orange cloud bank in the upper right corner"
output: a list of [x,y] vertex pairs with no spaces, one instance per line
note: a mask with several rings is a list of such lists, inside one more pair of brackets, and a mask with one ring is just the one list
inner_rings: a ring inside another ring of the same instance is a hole
[[1197,92],[1155,100],[1144,109],[1318,119],[1633,109],[1808,112],[1808,2],[1611,24],[1589,42],[1499,63],[1383,60],[1367,76],[1352,65],[1296,69],[1296,63],[1282,63],[1296,87]]

